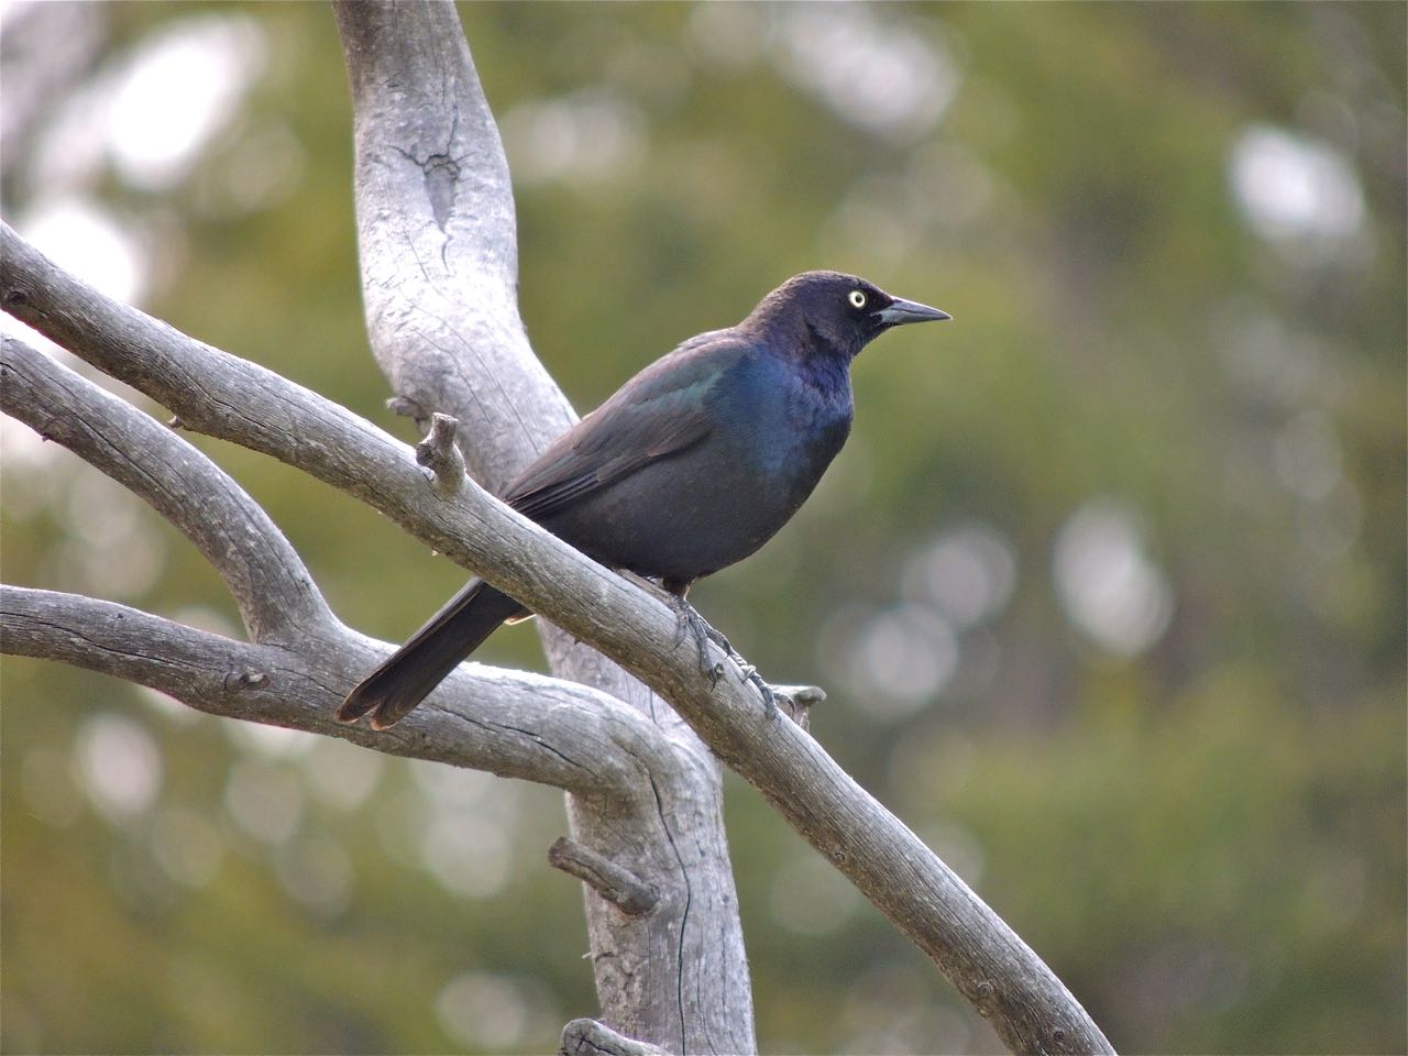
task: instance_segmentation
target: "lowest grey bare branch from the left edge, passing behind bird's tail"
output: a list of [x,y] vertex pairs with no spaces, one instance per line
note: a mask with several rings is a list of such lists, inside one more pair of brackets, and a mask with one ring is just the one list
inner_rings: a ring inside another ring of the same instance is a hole
[[462,666],[391,731],[341,725],[332,712],[356,673],[389,650],[352,632],[251,645],[113,601],[0,586],[0,641],[8,655],[111,674],[211,715],[618,803],[641,794],[642,773],[677,765],[659,732],[612,697],[482,665]]

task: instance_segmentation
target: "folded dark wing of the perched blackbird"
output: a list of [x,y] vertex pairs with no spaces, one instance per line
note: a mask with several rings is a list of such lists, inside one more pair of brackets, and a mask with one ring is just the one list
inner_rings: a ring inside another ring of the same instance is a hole
[[534,520],[703,441],[708,391],[746,349],[729,331],[701,334],[627,382],[573,425],[508,487],[504,501]]

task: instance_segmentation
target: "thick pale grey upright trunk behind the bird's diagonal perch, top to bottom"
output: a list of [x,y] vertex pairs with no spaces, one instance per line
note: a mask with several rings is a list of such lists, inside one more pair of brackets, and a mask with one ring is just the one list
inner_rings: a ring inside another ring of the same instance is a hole
[[[576,415],[518,318],[513,186],[448,3],[337,4],[356,131],[367,331],[396,407],[459,420],[473,476],[500,490]],[[455,584],[446,583],[446,594]],[[753,1052],[753,1008],[722,819],[722,769],[670,708],[539,621],[555,674],[631,703],[677,766],[628,803],[567,796],[573,841],[659,893],[629,915],[584,886],[601,1014],[672,1052]]]

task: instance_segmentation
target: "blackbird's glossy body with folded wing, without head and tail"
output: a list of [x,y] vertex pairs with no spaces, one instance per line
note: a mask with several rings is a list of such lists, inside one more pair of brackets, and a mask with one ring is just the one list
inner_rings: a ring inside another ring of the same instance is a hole
[[843,363],[745,328],[693,338],[543,452],[505,501],[614,567],[689,582],[742,560],[845,442]]

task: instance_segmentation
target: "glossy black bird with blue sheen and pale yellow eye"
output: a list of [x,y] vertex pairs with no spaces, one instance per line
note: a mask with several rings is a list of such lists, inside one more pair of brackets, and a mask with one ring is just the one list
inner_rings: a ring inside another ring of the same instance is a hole
[[[841,451],[856,353],[891,327],[946,318],[853,275],[794,276],[738,325],[690,338],[621,386],[503,500],[603,565],[659,579],[689,614],[690,583],[772,538]],[[472,579],[348,694],[338,721],[398,722],[525,615]]]

